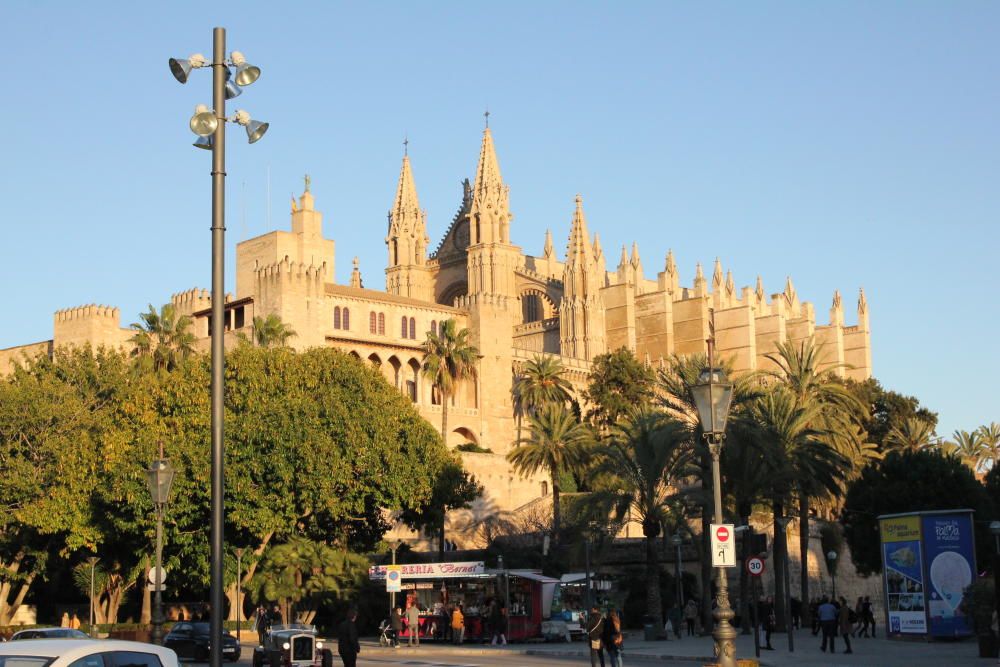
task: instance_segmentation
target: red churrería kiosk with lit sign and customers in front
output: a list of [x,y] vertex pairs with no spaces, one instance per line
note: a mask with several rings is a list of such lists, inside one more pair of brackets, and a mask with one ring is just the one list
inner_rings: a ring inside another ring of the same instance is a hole
[[[558,579],[533,570],[487,568],[482,561],[414,563],[400,566],[403,610],[416,604],[420,610],[421,639],[450,639],[450,614],[462,605],[465,640],[489,641],[490,609],[495,603],[507,609],[507,641],[541,637],[542,621],[549,616]],[[384,581],[386,566],[368,569],[372,581]],[[412,628],[404,623],[402,637]]]

